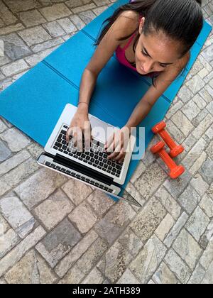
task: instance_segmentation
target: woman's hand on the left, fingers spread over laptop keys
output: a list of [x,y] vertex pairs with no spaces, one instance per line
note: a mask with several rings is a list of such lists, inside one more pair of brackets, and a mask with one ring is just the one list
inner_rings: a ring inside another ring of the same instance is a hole
[[73,138],[73,144],[78,151],[83,151],[83,141],[84,148],[90,148],[90,141],[92,140],[91,135],[91,125],[89,122],[88,113],[77,109],[72,121],[70,123],[70,128],[67,129],[66,141],[67,144],[70,142],[70,136]]

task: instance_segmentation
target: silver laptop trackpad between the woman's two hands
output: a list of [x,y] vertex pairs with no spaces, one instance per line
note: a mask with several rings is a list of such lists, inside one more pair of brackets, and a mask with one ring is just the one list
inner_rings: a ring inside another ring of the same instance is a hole
[[89,121],[92,127],[92,136],[95,139],[100,140],[102,143],[105,143],[113,132],[114,126],[111,126],[109,123],[101,121],[94,116],[90,116]]

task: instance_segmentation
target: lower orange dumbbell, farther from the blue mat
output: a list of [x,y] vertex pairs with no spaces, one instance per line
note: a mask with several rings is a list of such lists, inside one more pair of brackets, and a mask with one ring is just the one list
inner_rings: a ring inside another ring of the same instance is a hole
[[170,177],[172,179],[178,178],[180,175],[182,175],[183,172],[185,172],[185,168],[182,167],[182,165],[176,165],[174,160],[170,158],[170,155],[163,149],[165,146],[165,143],[162,141],[158,142],[157,144],[153,145],[151,148],[151,152],[156,154],[158,153],[160,155],[160,158],[165,162],[165,164],[170,168]]

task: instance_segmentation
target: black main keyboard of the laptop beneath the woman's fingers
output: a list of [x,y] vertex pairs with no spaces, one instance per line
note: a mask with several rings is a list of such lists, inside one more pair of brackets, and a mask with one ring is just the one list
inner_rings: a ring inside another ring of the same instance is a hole
[[84,150],[83,142],[83,152],[77,151],[73,145],[72,140],[70,140],[67,146],[66,133],[67,126],[62,126],[60,133],[58,134],[58,139],[56,140],[53,148],[58,150],[60,153],[65,153],[65,155],[71,156],[76,160],[81,160],[82,162],[97,167],[97,169],[102,170],[106,173],[113,175],[114,177],[120,177],[123,162],[113,162],[112,160],[107,160],[107,154],[104,150],[104,143],[100,143],[97,140],[92,140],[90,150]]

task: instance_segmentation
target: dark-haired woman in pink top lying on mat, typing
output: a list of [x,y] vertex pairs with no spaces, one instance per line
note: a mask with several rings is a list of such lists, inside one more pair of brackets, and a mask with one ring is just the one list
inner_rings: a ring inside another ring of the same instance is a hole
[[[190,48],[203,26],[201,0],[133,1],[120,6],[106,21],[107,26],[100,33],[95,43],[97,48],[82,75],[78,109],[67,131],[67,141],[72,135],[75,145],[82,150],[83,132],[85,148],[89,147],[89,100],[99,72],[116,51],[119,62],[141,75],[151,76],[153,81],[126,125],[106,142],[106,150],[111,152],[108,158],[121,162],[125,157],[126,128],[130,131],[141,123],[190,59]],[[85,127],[84,123],[87,123]]]

